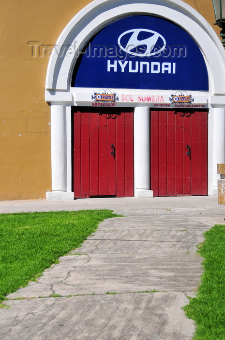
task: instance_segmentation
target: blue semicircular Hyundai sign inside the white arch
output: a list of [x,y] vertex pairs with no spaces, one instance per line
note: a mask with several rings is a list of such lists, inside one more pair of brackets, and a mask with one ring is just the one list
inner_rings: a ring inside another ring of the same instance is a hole
[[72,86],[207,91],[208,72],[193,37],[159,17],[117,20],[80,51]]

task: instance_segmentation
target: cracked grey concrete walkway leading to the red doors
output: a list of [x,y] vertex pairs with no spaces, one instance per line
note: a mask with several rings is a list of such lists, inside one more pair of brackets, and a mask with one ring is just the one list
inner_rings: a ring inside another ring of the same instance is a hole
[[181,307],[200,282],[196,245],[225,222],[225,206],[209,196],[0,202],[0,213],[95,208],[126,217],[103,221],[37,282],[10,294],[0,339],[192,339],[194,322]]

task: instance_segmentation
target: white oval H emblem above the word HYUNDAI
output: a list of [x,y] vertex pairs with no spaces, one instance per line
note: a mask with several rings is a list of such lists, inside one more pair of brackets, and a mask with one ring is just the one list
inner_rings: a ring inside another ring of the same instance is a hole
[[166,42],[163,35],[155,31],[136,28],[120,34],[118,45],[121,50],[131,55],[150,56],[163,51]]

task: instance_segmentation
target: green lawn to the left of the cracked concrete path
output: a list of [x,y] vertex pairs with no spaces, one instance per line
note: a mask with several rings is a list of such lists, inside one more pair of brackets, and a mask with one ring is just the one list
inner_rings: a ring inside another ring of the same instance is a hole
[[0,214],[0,301],[79,247],[112,210]]

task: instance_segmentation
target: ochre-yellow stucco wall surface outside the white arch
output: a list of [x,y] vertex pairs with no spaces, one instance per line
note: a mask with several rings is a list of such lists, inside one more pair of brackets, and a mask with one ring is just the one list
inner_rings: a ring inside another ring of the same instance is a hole
[[[54,45],[88,0],[10,0],[0,4],[0,200],[45,198],[51,190],[49,57],[29,41]],[[213,26],[211,0],[186,0]],[[219,28],[213,26],[217,34]]]

